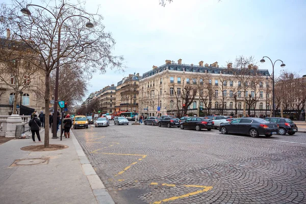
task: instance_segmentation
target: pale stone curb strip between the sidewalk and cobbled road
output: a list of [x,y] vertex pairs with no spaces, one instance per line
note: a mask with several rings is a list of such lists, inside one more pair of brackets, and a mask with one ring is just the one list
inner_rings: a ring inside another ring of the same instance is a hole
[[72,142],[74,144],[75,150],[77,151],[82,170],[87,177],[90,184],[91,190],[99,204],[115,204],[113,198],[108,193],[103,182],[100,180],[99,176],[96,174],[95,170],[92,168],[89,160],[87,159],[81,145],[75,138],[73,132],[70,132]]

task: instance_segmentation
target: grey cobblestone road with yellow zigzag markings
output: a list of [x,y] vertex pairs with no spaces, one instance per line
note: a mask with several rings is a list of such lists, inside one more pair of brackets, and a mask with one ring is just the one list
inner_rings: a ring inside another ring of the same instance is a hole
[[131,124],[73,132],[116,203],[306,203],[304,133]]

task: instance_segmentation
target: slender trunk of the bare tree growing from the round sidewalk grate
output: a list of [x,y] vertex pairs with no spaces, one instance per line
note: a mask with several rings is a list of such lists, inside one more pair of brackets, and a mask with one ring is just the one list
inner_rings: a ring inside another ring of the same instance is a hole
[[[45,139],[44,139],[44,147],[49,147],[49,96],[50,96],[50,74],[46,71],[45,75]],[[54,110],[57,111],[57,110]]]

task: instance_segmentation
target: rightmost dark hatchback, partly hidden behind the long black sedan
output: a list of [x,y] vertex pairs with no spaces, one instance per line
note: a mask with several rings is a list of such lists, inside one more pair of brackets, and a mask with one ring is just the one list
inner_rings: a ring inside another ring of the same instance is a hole
[[294,135],[297,132],[297,126],[289,118],[265,118],[269,122],[275,122],[279,126],[278,134],[279,135]]

